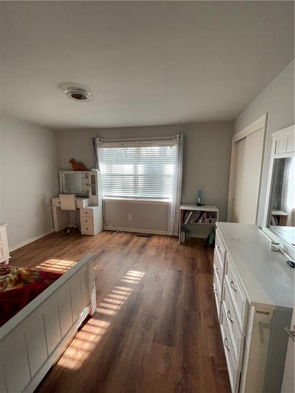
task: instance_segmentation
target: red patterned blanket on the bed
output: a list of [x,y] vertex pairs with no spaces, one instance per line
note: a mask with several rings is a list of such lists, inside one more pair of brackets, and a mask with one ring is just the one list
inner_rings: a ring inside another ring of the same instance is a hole
[[60,276],[58,273],[0,264],[0,326]]

